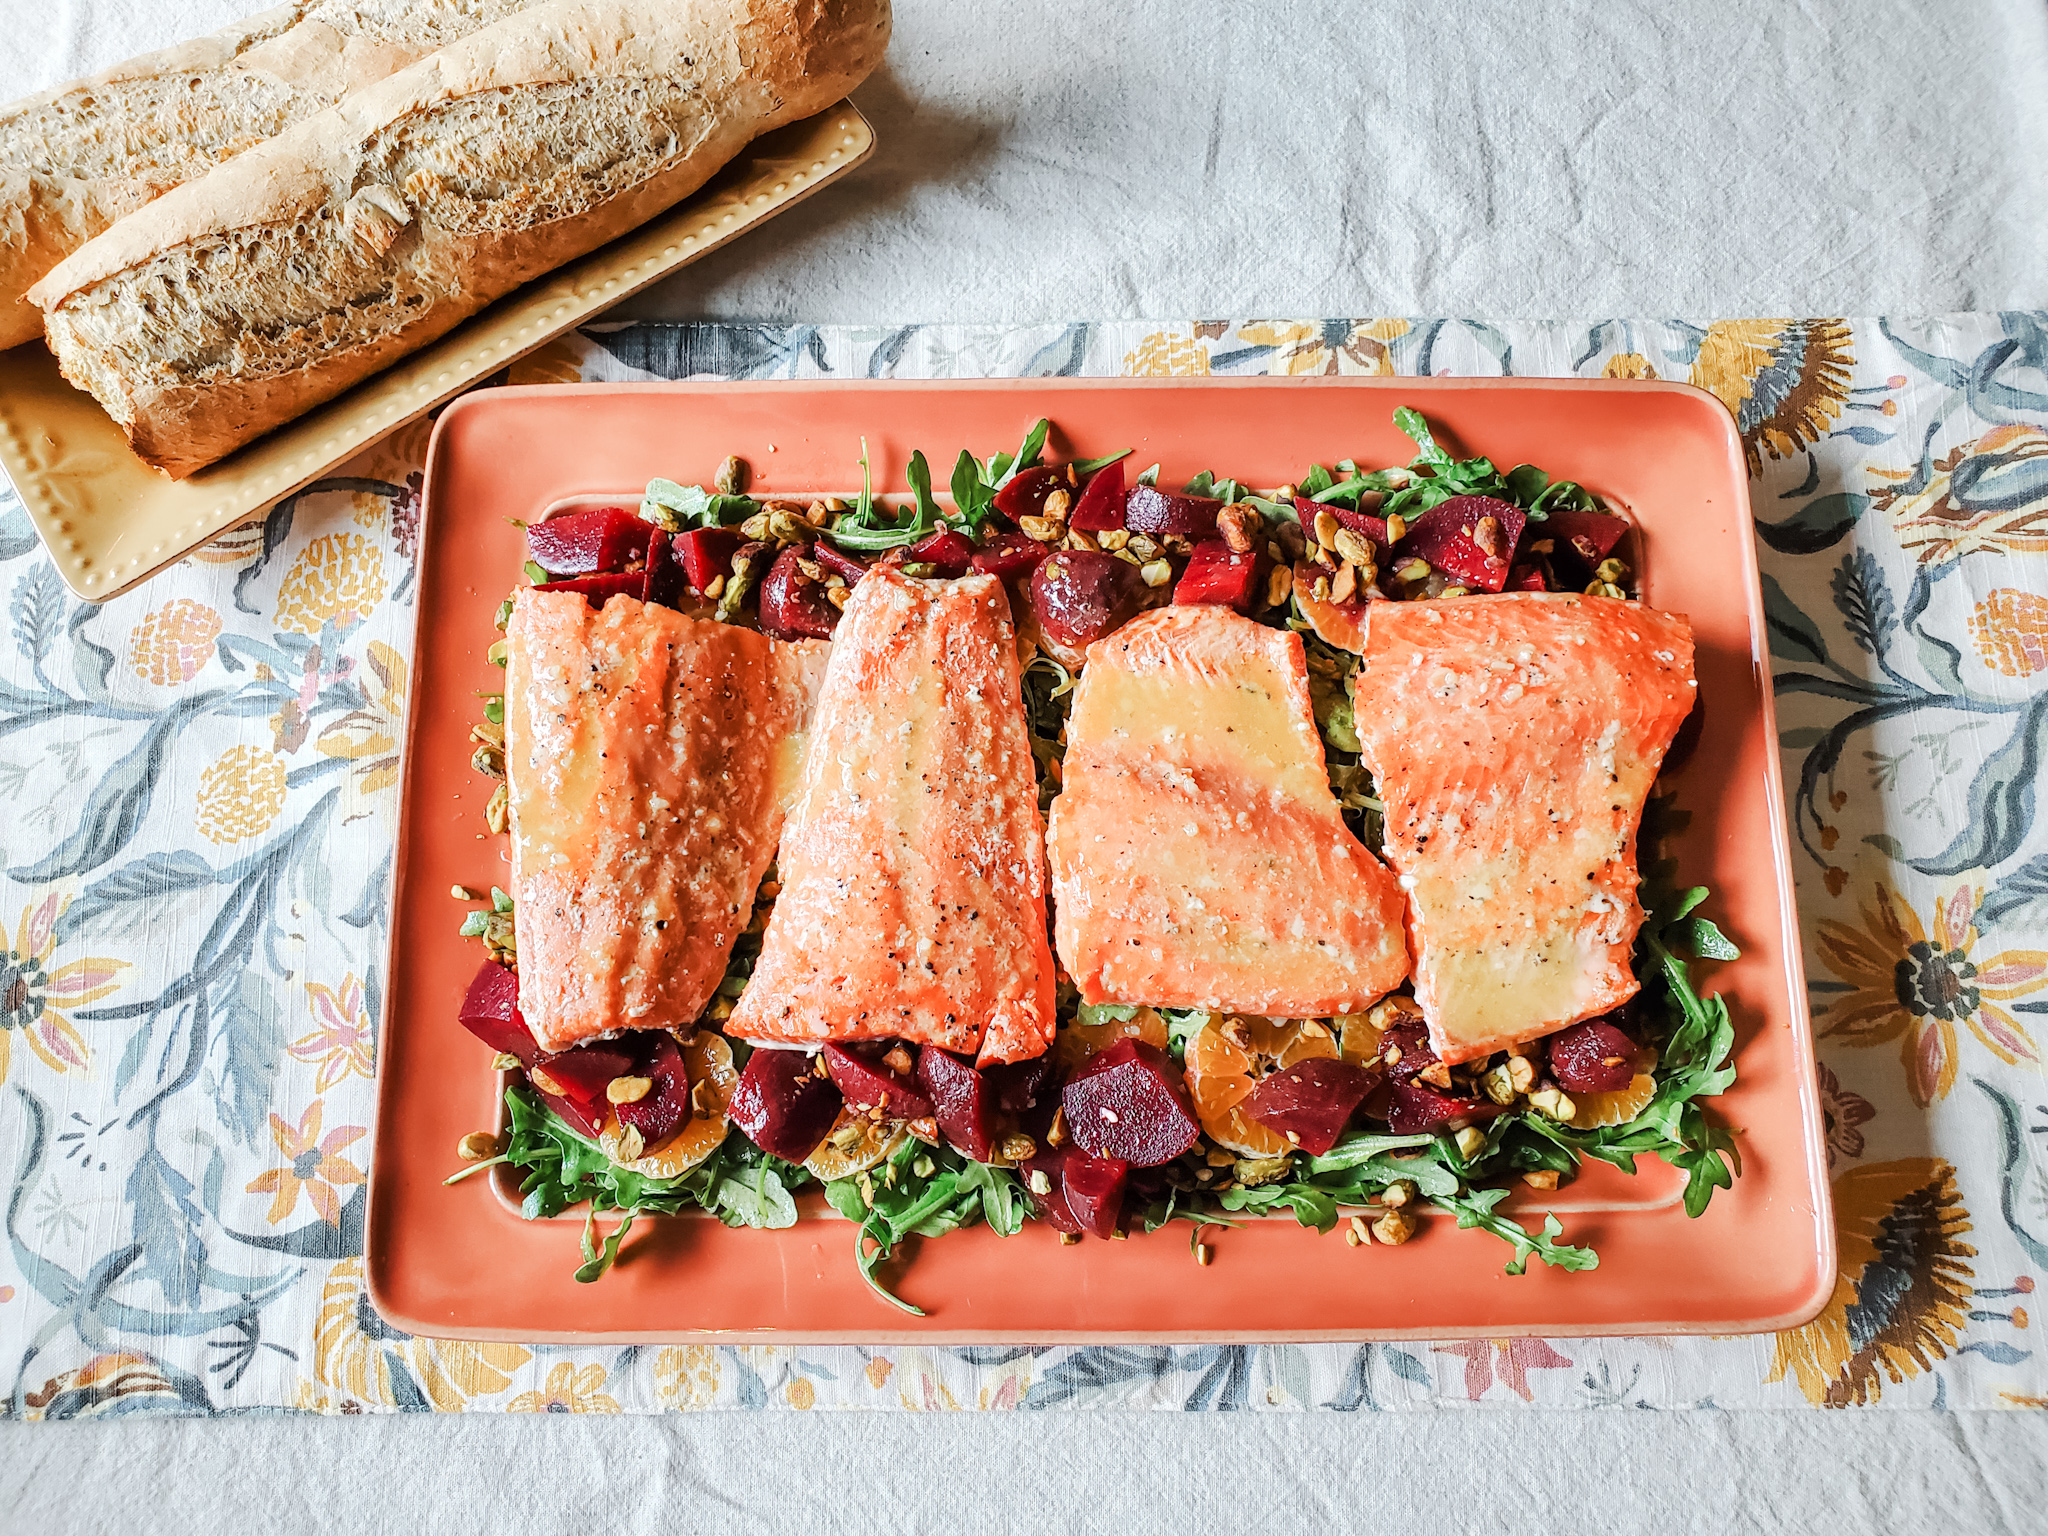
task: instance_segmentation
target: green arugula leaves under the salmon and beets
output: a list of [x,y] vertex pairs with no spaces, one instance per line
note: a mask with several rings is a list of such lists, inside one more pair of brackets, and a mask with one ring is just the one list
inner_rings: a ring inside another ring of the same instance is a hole
[[[1380,516],[1401,514],[1409,522],[1438,502],[1468,494],[1511,502],[1538,522],[1552,508],[1599,508],[1597,498],[1583,485],[1554,481],[1534,465],[1516,465],[1503,473],[1485,457],[1454,457],[1436,440],[1419,412],[1403,408],[1395,414],[1395,422],[1417,444],[1409,465],[1362,469],[1352,459],[1341,459],[1333,467],[1317,463],[1303,473],[1296,494],[1309,502],[1343,508],[1358,508],[1362,496],[1376,494]],[[952,467],[950,510],[934,500],[930,467],[922,453],[911,455],[905,473],[911,504],[891,510],[874,496],[862,449],[858,500],[817,537],[858,553],[911,545],[942,528],[979,541],[997,516],[995,492],[1014,475],[1042,463],[1049,430],[1051,424],[1040,420],[1014,455],[977,459],[963,449]],[[1122,457],[1094,459],[1075,469],[1085,475]],[[1155,483],[1157,471],[1157,465],[1143,471],[1139,483]],[[1245,502],[1255,506],[1270,526],[1300,522],[1292,500],[1257,496],[1235,479],[1217,479],[1212,473],[1188,481],[1186,494]],[[664,479],[647,487],[641,506],[643,518],[670,532],[731,526],[764,512],[768,508],[762,502],[741,494],[707,492],[700,485]],[[909,569],[918,573],[915,567]],[[721,616],[729,616],[723,604]],[[1368,848],[1378,850],[1380,803],[1358,762],[1358,735],[1352,723],[1348,680],[1356,659],[1307,633],[1309,623],[1292,604],[1268,610],[1260,618],[1303,631],[1331,788],[1354,831]],[[1040,805],[1051,805],[1059,791],[1073,686],[1073,674],[1044,651],[1024,668],[1024,711],[1038,766]],[[1554,1214],[1532,1231],[1499,1206],[1520,1176],[1534,1174],[1538,1182],[1544,1176],[1569,1178],[1585,1159],[1634,1174],[1636,1157],[1642,1155],[1659,1157],[1686,1174],[1686,1212],[1698,1217],[1714,1190],[1731,1186],[1741,1159],[1729,1130],[1706,1112],[1706,1100],[1726,1092],[1735,1081],[1735,1067],[1729,1061],[1735,1030],[1722,999],[1698,993],[1692,967],[1698,961],[1735,958],[1737,950],[1710,920],[1700,915],[1706,889],[1677,887],[1673,864],[1655,856],[1661,838],[1677,831],[1683,819],[1667,799],[1653,799],[1640,836],[1645,858],[1640,899],[1647,922],[1636,938],[1634,971],[1642,991],[1632,1004],[1630,1020],[1657,1049],[1657,1065],[1655,1096],[1630,1120],[1587,1130],[1518,1102],[1483,1124],[1483,1139],[1466,1135],[1462,1151],[1460,1137],[1448,1130],[1374,1135],[1358,1128],[1321,1157],[1225,1155],[1223,1161],[1210,1157],[1212,1145],[1204,1137],[1192,1153],[1153,1171],[1155,1178],[1145,1186],[1151,1194],[1137,1196],[1126,1208],[1128,1225],[1149,1233],[1174,1221],[1188,1221],[1198,1243],[1200,1231],[1208,1225],[1237,1225],[1247,1217],[1284,1210],[1303,1227],[1327,1233],[1346,1210],[1393,1206],[1407,1196],[1452,1214],[1458,1227],[1479,1227],[1503,1239],[1511,1249],[1505,1266],[1509,1274],[1522,1274],[1532,1257],[1565,1270],[1589,1270],[1599,1257],[1589,1247],[1561,1241],[1563,1225]],[[473,913],[463,932],[485,936],[487,942],[489,934],[496,934],[494,954],[514,954],[510,922],[510,901],[494,891],[494,909]],[[715,1028],[715,1022],[731,1012],[731,999],[743,989],[756,954],[758,938],[750,932],[735,948],[719,999],[707,1014],[709,1026]],[[1128,1018],[1133,1012],[1137,1010],[1116,1006],[1085,1008],[1069,983],[1061,985],[1061,1028]],[[1202,1012],[1161,1010],[1161,1016],[1176,1057],[1210,1020]],[[745,1042],[731,1044],[735,1059],[743,1061]],[[526,1087],[510,1087],[508,1106],[508,1145],[492,1163],[504,1161],[522,1169],[520,1188],[528,1219],[553,1217],[575,1204],[586,1206],[580,1280],[596,1280],[612,1266],[641,1214],[696,1208],[729,1227],[788,1227],[797,1221],[795,1196],[821,1184],[805,1167],[768,1157],[737,1128],[705,1163],[680,1178],[655,1180],[612,1163],[596,1141],[557,1118]],[[1221,1180],[1227,1188],[1204,1188],[1219,1169],[1229,1176]],[[469,1171],[477,1169],[465,1169],[457,1178]],[[950,1145],[913,1137],[901,1139],[879,1163],[850,1178],[823,1182],[821,1188],[831,1208],[856,1223],[854,1251],[862,1276],[877,1294],[911,1313],[918,1309],[893,1296],[879,1278],[881,1266],[891,1262],[907,1239],[938,1237],[977,1223],[1008,1237],[1038,1214],[1028,1184],[1012,1167],[977,1163]],[[600,1214],[618,1217],[610,1235],[598,1235]],[[1200,1247],[1196,1255],[1202,1257]]]

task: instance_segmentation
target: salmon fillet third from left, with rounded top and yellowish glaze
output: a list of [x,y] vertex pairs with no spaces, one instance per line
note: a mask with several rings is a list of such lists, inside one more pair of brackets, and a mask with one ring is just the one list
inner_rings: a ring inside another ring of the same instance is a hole
[[1061,782],[1055,942],[1085,1001],[1311,1018],[1407,977],[1401,887],[1329,791],[1300,635],[1184,606],[1096,641]]

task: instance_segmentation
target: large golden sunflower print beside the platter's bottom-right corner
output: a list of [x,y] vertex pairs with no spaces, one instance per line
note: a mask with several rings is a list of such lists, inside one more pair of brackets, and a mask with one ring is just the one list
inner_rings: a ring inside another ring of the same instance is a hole
[[1790,1376],[1808,1403],[1847,1407],[1946,1360],[1970,1319],[1968,1231],[1956,1169],[1939,1157],[1851,1167],[1835,1180],[1835,1294],[1778,1335],[1763,1380]]

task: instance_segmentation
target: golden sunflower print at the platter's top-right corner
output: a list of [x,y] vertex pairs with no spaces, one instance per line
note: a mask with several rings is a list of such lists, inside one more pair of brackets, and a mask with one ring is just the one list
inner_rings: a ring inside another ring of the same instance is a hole
[[1849,401],[1853,334],[1843,319],[1716,319],[1692,383],[1735,416],[1749,473],[1825,438]]

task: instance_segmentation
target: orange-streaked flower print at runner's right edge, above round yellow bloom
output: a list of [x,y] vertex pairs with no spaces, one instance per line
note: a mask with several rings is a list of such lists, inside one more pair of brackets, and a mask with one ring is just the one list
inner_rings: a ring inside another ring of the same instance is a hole
[[1921,565],[1976,551],[2048,555],[2048,432],[1995,426],[1942,455],[1919,489],[1917,469],[1876,471],[1870,504],[1892,520],[1898,543]]

